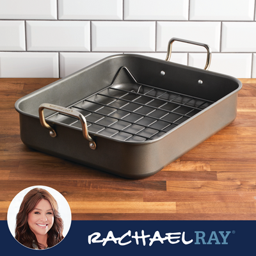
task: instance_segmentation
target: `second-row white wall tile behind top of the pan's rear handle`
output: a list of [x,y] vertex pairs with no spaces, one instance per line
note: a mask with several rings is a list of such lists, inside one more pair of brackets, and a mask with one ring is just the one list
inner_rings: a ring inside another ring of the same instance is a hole
[[[208,44],[220,51],[221,22],[157,22],[157,51],[166,51],[171,38],[182,38]],[[173,51],[205,51],[204,47],[173,42]]]

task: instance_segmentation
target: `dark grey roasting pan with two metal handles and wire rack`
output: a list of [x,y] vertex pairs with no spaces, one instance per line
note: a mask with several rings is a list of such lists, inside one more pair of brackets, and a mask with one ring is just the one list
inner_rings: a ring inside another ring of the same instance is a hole
[[[207,49],[204,69],[170,62],[172,43]],[[25,145],[131,179],[148,177],[236,118],[241,82],[207,70],[208,45],[172,38],[166,60],[117,54],[15,103]]]

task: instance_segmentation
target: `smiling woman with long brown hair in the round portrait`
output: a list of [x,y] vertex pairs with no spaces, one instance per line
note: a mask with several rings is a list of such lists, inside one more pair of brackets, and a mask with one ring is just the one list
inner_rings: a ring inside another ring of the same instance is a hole
[[14,237],[20,244],[36,250],[51,248],[63,240],[64,227],[58,202],[49,191],[33,188],[24,195],[15,218]]

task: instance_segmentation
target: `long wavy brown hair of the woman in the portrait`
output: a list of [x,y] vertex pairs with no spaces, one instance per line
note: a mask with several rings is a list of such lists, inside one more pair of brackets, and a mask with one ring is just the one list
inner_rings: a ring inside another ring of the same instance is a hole
[[63,220],[60,218],[56,200],[45,189],[34,188],[24,196],[16,218],[15,239],[28,248],[34,248],[33,243],[38,249],[43,247],[42,244],[38,243],[35,234],[28,225],[29,212],[33,211],[38,202],[42,199],[49,201],[54,214],[54,223],[47,233],[47,246],[52,247],[64,238],[62,234],[64,226]]

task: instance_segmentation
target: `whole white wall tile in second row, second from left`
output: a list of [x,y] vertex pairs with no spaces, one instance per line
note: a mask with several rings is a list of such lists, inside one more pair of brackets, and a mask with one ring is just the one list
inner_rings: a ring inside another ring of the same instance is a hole
[[28,51],[90,51],[89,21],[27,21]]

